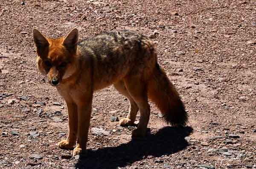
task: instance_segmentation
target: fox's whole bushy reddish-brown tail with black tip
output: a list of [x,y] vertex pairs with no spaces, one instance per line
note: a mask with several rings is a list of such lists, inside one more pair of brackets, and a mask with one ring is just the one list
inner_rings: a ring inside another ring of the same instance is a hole
[[188,115],[183,102],[158,63],[148,82],[148,97],[156,103],[167,123],[171,123],[173,126],[185,126]]

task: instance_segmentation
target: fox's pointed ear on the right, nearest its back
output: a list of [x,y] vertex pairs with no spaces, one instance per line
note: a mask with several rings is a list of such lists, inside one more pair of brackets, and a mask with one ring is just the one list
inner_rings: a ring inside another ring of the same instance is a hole
[[75,28],[72,31],[70,31],[69,34],[65,37],[63,41],[63,45],[69,50],[69,51],[76,51],[76,45],[78,41],[78,30]]

